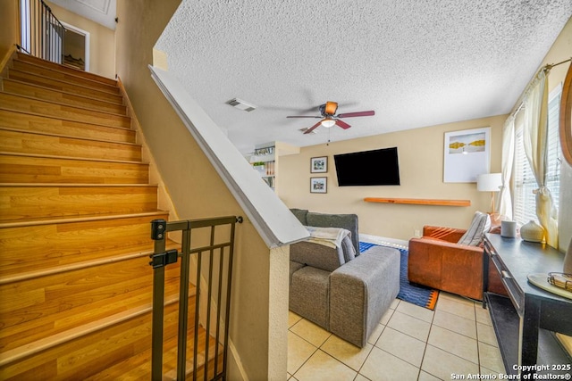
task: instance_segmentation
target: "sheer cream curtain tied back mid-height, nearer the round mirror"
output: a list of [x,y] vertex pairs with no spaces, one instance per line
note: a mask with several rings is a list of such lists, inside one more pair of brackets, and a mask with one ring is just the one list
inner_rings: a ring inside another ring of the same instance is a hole
[[536,215],[545,231],[546,243],[558,247],[558,216],[546,187],[548,142],[548,72],[542,70],[531,83],[525,101],[524,144],[536,184]]

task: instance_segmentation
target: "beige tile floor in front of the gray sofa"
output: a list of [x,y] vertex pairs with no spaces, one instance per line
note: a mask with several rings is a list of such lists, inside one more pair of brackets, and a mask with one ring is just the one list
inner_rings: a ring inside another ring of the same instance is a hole
[[440,293],[435,311],[396,299],[361,349],[289,312],[290,381],[498,379],[500,373],[488,311],[457,295]]

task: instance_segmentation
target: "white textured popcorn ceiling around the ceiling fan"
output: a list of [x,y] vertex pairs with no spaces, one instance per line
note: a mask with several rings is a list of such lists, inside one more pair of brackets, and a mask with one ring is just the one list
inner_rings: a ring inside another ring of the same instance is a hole
[[[183,0],[156,48],[248,153],[508,113],[571,14],[570,0]],[[286,119],[326,101],[375,116],[308,135],[318,120]]]

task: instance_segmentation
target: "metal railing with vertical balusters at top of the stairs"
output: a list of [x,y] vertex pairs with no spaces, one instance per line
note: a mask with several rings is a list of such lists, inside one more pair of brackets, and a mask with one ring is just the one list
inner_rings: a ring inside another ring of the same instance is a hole
[[44,0],[20,0],[21,51],[63,63],[65,27]]

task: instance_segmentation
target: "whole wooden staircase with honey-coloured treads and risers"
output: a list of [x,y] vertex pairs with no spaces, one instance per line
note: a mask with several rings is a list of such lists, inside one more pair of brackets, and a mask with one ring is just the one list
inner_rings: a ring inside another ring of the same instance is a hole
[[[147,380],[149,222],[169,213],[157,210],[129,102],[113,79],[28,54],[3,72],[0,379]],[[178,266],[165,279],[164,379],[174,379]],[[197,350],[202,378],[213,361]]]

